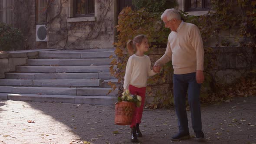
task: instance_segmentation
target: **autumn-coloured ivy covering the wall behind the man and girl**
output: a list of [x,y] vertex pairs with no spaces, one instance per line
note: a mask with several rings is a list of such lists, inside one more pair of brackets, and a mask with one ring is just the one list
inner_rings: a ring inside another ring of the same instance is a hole
[[[253,48],[253,55],[256,56],[256,3],[251,0],[215,0],[212,1],[212,11],[202,16],[191,16],[188,13],[181,11],[182,19],[188,23],[196,24],[200,31],[202,38],[207,43],[211,38],[220,41],[218,46],[230,46],[232,42],[222,37],[223,31],[236,30],[236,37],[233,41],[237,41],[239,45]],[[240,11],[237,11],[237,8]],[[168,29],[164,28],[163,22],[160,20],[161,12],[151,13],[148,10],[141,8],[139,10],[131,10],[126,7],[118,16],[118,25],[116,26],[118,34],[118,42],[114,43],[116,46],[115,54],[117,59],[112,60],[110,72],[119,83],[123,83],[125,75],[126,62],[128,60],[128,52],[125,49],[125,43],[128,39],[133,38],[138,34],[148,35],[148,41],[151,43],[152,49],[157,47],[165,47],[167,43],[167,36],[170,33]],[[238,29],[238,33],[237,33]],[[232,33],[231,33],[232,34]],[[151,49],[151,50],[152,50]],[[150,53],[150,52],[149,52]],[[255,67],[248,69],[249,75],[244,75],[237,79],[233,84],[220,84],[217,82],[216,73],[213,73],[213,68],[217,65],[217,51],[213,48],[205,47],[205,82],[202,85],[201,101],[204,103],[213,103],[223,101],[224,99],[232,98],[234,96],[256,95],[256,71]],[[245,56],[246,57],[246,56]],[[112,56],[110,57],[112,58]],[[250,60],[246,60],[251,62]],[[154,95],[154,101],[150,105],[152,108],[166,107],[174,104],[172,94],[172,83],[168,83],[167,90],[162,91],[161,85],[167,84],[165,81],[171,78],[173,69],[171,62],[164,66],[160,74],[155,75],[148,80],[148,93],[157,87]],[[117,85],[109,82],[112,89],[117,88]],[[119,85],[119,95],[122,93],[122,85]],[[111,92],[111,91],[110,91]]]

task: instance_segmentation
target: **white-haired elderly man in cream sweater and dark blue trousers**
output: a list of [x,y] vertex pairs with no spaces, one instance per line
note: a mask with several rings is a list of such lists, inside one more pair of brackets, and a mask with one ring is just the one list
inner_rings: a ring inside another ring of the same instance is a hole
[[154,72],[172,61],[174,76],[174,105],[178,118],[179,133],[171,137],[172,141],[190,138],[188,130],[186,95],[190,105],[193,129],[198,141],[204,141],[200,110],[200,86],[203,83],[203,41],[197,26],[184,23],[180,13],[167,9],[161,15],[166,28],[171,29],[165,54],[155,62]]

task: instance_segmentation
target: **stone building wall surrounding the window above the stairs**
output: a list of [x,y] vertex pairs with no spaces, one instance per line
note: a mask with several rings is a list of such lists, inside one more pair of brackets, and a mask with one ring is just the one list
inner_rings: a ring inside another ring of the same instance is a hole
[[48,9],[49,48],[112,48],[114,0],[95,0],[95,16],[73,17],[73,0],[55,0]]

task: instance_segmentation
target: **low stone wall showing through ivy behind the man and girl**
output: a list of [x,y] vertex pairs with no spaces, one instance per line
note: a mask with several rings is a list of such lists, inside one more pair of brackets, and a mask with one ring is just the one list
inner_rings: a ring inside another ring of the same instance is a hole
[[[165,49],[166,48],[152,49],[149,53],[151,66],[161,58]],[[218,83],[233,83],[236,79],[246,75],[251,70],[256,70],[256,53],[253,48],[213,47],[213,51],[209,54],[216,55],[216,65],[213,66],[213,70],[210,71],[210,73],[215,75]],[[147,103],[150,103],[153,100],[152,96],[154,96],[158,90],[161,90],[163,93],[169,91],[170,87],[172,87],[172,76],[173,74],[167,75],[165,83],[159,82],[151,88],[152,92],[147,94],[149,96],[146,100]]]

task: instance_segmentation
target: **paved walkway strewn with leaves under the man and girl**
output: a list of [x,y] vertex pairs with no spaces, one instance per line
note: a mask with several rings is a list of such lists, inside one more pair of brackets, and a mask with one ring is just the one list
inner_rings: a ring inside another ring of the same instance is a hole
[[[0,144],[130,144],[130,128],[114,125],[114,112],[114,106],[0,101]],[[171,142],[174,108],[145,109],[142,119],[142,144],[196,144],[195,138]],[[256,97],[203,105],[202,119],[209,144],[256,143]]]

